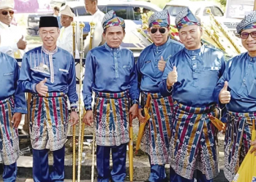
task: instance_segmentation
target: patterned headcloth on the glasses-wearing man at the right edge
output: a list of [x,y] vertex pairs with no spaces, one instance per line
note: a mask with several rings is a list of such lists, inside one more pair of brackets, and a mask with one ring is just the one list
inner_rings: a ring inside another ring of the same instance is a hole
[[244,19],[241,20],[241,22],[236,26],[236,31],[238,34],[240,34],[241,31],[250,28],[256,28],[256,11],[246,15]]

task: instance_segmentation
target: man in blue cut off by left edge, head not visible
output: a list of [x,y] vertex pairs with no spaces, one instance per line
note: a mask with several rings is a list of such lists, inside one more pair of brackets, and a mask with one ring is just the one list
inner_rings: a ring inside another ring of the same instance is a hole
[[0,162],[4,163],[3,180],[15,182],[19,157],[18,125],[27,113],[25,93],[18,89],[20,68],[17,61],[0,52]]

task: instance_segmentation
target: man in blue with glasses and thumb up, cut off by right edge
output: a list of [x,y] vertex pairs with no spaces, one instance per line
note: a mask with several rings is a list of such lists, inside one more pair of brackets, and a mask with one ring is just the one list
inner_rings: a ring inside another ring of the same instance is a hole
[[224,174],[232,181],[251,145],[252,121],[256,116],[256,11],[244,17],[237,32],[248,52],[230,59],[214,90],[217,102],[226,104]]

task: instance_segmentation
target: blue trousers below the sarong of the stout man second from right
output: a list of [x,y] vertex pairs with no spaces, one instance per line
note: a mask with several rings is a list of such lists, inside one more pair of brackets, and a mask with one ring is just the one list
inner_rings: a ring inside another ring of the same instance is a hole
[[200,170],[196,170],[193,179],[189,180],[175,173],[173,168],[170,167],[170,182],[194,182],[194,179],[197,179],[197,182],[213,182],[213,180],[207,180],[206,175],[204,175]]

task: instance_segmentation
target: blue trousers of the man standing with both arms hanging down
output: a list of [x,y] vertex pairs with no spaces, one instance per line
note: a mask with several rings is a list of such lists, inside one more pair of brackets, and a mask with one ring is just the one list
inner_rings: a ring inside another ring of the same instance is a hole
[[[113,169],[110,172],[110,150],[112,151]],[[99,182],[124,181],[126,173],[127,143],[120,146],[97,146],[97,171]]]

